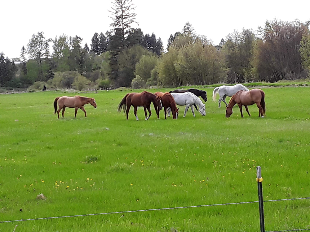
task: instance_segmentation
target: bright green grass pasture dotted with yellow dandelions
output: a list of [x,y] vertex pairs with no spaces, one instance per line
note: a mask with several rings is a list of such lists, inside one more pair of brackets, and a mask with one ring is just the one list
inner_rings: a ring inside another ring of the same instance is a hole
[[[129,91],[95,97],[74,119],[53,114],[64,92],[0,95],[0,221],[258,200],[309,197],[308,87],[263,88],[266,118],[212,102],[206,116],[129,120],[117,105]],[[152,90],[156,92],[158,90]],[[166,91],[163,90],[163,91]],[[18,120],[18,121],[16,121]],[[88,157],[88,159],[86,159]],[[96,160],[96,158],[98,158]],[[96,161],[95,161],[96,160]],[[92,161],[92,162],[91,162]],[[36,200],[43,193],[46,200]],[[310,200],[265,202],[265,228],[310,228]],[[20,211],[22,209],[22,211]],[[0,231],[259,231],[258,203],[0,224]]]

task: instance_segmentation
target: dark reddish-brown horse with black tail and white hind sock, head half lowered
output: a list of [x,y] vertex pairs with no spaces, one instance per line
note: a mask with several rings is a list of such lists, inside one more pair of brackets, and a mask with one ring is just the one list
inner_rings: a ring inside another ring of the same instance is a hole
[[[141,93],[135,93],[135,92],[127,93],[125,97],[122,99],[122,101],[119,103],[117,111],[121,112],[123,108],[124,114],[125,114],[125,110],[126,110],[126,119],[128,120],[129,109],[131,105],[133,105],[133,107],[135,108],[134,110],[135,117],[137,120],[139,120],[137,116],[137,109],[138,109],[138,106],[143,106],[144,113],[145,113],[145,120],[148,120],[152,114],[151,108],[150,108],[151,102],[153,102],[153,105],[155,107],[155,111],[157,114],[157,118],[159,118],[159,110],[162,109],[162,102],[160,98],[157,97],[155,94],[147,92],[147,91],[143,91]],[[148,117],[147,117],[146,109],[148,109],[148,112],[149,112]]]

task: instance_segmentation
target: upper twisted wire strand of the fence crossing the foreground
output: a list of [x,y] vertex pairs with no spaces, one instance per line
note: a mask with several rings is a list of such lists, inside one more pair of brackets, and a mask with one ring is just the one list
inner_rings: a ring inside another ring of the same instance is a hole
[[[264,202],[284,201],[284,200],[302,200],[302,199],[310,199],[310,197],[279,199],[279,200],[264,200]],[[19,219],[19,220],[11,220],[11,221],[0,221],[0,223],[15,222],[15,221],[33,221],[33,220],[65,218],[65,217],[84,217],[84,216],[106,215],[106,214],[116,214],[116,213],[135,213],[135,212],[159,211],[159,210],[180,209],[180,208],[198,208],[198,207],[219,206],[219,205],[249,204],[249,203],[258,203],[258,201],[246,201],[246,202],[223,203],[223,204],[205,204],[205,205],[181,206],[181,207],[171,207],[171,208],[140,209],[140,210],[130,210],[130,211],[118,211],[118,212],[108,212],[108,213],[90,213],[90,214],[68,215],[68,216],[58,216],[58,217],[29,218],[29,219]],[[309,230],[309,229],[307,229],[307,230]],[[290,231],[290,230],[283,230],[283,231]]]

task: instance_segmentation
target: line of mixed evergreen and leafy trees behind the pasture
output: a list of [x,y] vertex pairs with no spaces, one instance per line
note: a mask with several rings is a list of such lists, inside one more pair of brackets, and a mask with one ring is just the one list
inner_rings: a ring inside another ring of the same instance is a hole
[[[187,22],[170,35],[167,48],[155,34],[135,24],[131,0],[115,0],[113,28],[95,33],[90,46],[65,34],[54,39],[33,34],[22,47],[21,64],[0,54],[0,87],[79,90],[149,86],[178,87],[219,82],[276,82],[304,79],[310,71],[309,21],[266,21],[263,27],[234,31],[218,46],[197,35]],[[50,48],[52,44],[52,48]],[[28,54],[29,60],[26,60]]]

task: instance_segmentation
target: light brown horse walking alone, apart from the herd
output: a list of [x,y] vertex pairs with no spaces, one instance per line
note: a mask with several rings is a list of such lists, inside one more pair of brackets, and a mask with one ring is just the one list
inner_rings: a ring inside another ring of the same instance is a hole
[[[59,110],[57,110],[57,103],[59,106]],[[95,108],[97,107],[95,99],[91,98],[91,97],[81,97],[81,96],[56,97],[55,101],[54,101],[54,108],[55,108],[54,114],[56,114],[56,111],[57,111],[58,118],[59,118],[59,112],[62,109],[62,117],[64,117],[64,110],[66,109],[66,107],[69,107],[69,108],[75,108],[74,118],[76,118],[76,116],[77,116],[78,109],[83,110],[85,113],[85,117],[86,117],[86,111],[84,109],[84,105],[88,104],[88,103],[91,104],[92,106],[94,106]]]

